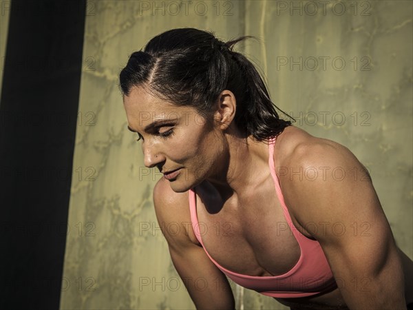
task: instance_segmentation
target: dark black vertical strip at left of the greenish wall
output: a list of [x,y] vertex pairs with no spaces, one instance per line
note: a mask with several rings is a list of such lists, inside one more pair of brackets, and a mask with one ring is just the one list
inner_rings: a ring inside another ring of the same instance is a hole
[[10,7],[0,103],[0,309],[59,309],[85,0],[12,0]]

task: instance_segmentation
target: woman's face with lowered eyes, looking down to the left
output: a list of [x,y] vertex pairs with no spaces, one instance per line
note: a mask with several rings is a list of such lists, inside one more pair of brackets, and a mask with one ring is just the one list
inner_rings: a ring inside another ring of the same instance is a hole
[[129,129],[141,138],[146,167],[158,167],[174,192],[186,192],[224,169],[225,143],[219,126],[209,126],[193,107],[158,99],[144,87],[124,96]]

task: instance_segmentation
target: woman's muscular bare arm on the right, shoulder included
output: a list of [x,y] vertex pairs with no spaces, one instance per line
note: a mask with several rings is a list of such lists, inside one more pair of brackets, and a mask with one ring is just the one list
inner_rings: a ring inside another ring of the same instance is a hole
[[280,178],[286,204],[299,226],[317,225],[307,232],[320,242],[348,307],[406,309],[392,231],[357,158],[337,143],[311,138],[286,163],[302,172]]

